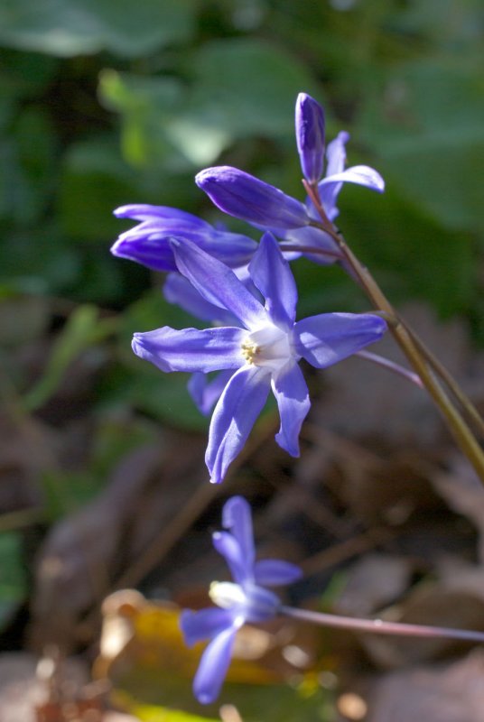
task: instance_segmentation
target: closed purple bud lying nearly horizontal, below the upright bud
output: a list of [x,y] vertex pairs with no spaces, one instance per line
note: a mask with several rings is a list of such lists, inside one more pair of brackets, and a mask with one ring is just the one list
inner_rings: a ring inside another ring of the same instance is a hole
[[298,228],[310,221],[299,200],[237,168],[207,168],[198,173],[195,182],[224,213],[257,227]]

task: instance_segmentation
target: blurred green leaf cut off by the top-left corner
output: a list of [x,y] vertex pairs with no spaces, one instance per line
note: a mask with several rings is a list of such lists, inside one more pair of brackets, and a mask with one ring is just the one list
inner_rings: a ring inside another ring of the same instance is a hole
[[71,57],[139,57],[191,38],[198,0],[1,0],[0,42]]

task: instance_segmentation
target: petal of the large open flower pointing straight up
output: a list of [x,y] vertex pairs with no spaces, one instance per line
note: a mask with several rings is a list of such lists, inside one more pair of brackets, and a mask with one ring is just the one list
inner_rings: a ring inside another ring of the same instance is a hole
[[293,272],[271,233],[262,236],[249,273],[265,297],[265,309],[276,326],[293,328],[296,317],[297,289]]

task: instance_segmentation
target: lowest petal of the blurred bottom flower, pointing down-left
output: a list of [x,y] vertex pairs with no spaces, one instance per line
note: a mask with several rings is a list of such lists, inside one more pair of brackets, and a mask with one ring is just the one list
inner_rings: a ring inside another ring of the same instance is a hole
[[220,632],[201,655],[199,669],[193,680],[193,692],[200,704],[207,705],[218,698],[230,664],[237,629],[243,622],[242,617],[231,628]]

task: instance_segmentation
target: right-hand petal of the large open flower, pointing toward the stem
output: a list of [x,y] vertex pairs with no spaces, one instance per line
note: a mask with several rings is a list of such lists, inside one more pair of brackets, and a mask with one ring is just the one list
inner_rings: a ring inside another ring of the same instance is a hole
[[296,351],[312,366],[326,368],[378,341],[386,322],[370,313],[322,313],[294,326]]

